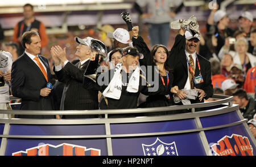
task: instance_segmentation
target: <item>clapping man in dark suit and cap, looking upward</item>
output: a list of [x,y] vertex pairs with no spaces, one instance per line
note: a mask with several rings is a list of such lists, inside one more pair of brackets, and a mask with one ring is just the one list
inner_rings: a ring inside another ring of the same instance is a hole
[[[60,109],[64,110],[92,110],[98,109],[98,91],[87,91],[82,87],[82,78],[90,59],[100,55],[106,55],[106,46],[99,40],[91,37],[81,39],[75,38],[77,44],[76,57],[79,59],[73,63],[69,62],[65,48],[53,46],[51,55],[55,61],[55,72],[57,79],[65,83],[64,93]],[[63,68],[61,67],[63,63]],[[89,118],[90,115],[65,115],[65,118]]]

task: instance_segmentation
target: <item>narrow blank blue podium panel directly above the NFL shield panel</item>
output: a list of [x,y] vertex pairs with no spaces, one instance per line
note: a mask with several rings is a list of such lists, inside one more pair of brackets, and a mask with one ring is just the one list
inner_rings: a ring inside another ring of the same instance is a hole
[[118,123],[110,125],[111,134],[139,134],[196,129],[193,119],[148,123]]

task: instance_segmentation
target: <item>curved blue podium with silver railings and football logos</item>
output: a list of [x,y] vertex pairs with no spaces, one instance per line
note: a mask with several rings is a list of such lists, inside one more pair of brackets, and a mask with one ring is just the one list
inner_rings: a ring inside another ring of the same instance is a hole
[[[120,110],[0,110],[4,114],[94,114],[83,119],[0,119],[5,156],[252,156],[256,141],[233,97],[200,104]],[[195,109],[201,109],[195,112]],[[158,114],[187,110],[181,114]],[[136,116],[133,116],[136,113]],[[150,116],[147,113],[154,113]],[[126,116],[123,117],[122,114]],[[127,115],[128,114],[128,115]],[[131,114],[129,116],[129,114]],[[110,115],[114,115],[110,117]]]

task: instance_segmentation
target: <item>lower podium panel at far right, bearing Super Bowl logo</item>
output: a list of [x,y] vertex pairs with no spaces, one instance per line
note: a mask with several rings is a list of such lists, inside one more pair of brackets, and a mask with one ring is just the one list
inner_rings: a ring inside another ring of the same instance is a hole
[[205,136],[213,155],[256,155],[256,147],[242,124],[205,131]]

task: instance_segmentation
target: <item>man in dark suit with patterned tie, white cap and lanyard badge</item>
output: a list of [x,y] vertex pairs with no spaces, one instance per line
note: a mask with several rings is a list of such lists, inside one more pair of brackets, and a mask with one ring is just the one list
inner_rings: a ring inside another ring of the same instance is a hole
[[175,96],[185,99],[189,90],[196,89],[198,97],[196,100],[191,100],[193,104],[204,102],[204,99],[207,100],[211,97],[213,95],[213,85],[210,62],[196,53],[197,45],[200,42],[199,33],[195,33],[191,29],[188,30],[185,31],[185,29],[180,28],[167,61],[168,65],[174,70],[173,85],[179,87]]

